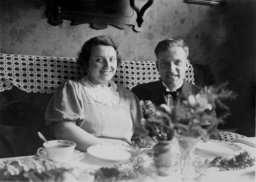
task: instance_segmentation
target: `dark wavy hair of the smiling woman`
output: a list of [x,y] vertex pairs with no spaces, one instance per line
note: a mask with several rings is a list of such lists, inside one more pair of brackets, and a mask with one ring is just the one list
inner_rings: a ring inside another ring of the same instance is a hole
[[90,40],[86,41],[82,46],[82,49],[78,55],[77,64],[80,65],[82,68],[87,69],[89,66],[89,59],[91,57],[92,47],[96,45],[110,45],[114,47],[116,51],[116,58],[117,58],[117,67],[122,63],[121,57],[118,54],[118,46],[109,36],[97,36],[91,38]]

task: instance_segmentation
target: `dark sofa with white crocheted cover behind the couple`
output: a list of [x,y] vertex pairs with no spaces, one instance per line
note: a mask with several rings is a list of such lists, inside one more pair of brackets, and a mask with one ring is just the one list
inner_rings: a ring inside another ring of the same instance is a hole
[[[79,79],[87,74],[87,70],[76,64],[75,58],[0,54],[0,126],[10,135],[13,132],[16,136],[20,132],[26,138],[25,144],[21,145],[24,148],[18,149],[26,151],[16,154],[11,151],[16,150],[17,142],[8,141],[10,137],[1,132],[0,148],[2,151],[6,148],[6,155],[2,152],[4,156],[0,154],[0,158],[34,154],[42,145],[37,131],[51,139],[53,136],[44,125],[48,102],[67,79]],[[155,62],[151,61],[123,61],[113,77],[115,83],[130,90],[135,85],[158,79]],[[185,79],[201,87],[214,83],[210,69],[203,65],[190,65]],[[226,141],[244,137],[235,133],[220,135]]]

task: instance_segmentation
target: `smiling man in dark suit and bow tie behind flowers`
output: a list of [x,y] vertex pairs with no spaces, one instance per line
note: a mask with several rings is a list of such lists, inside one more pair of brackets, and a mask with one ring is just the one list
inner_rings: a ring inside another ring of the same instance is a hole
[[[166,39],[158,43],[155,54],[157,58],[156,69],[159,71],[161,79],[137,85],[132,89],[132,92],[140,100],[150,100],[156,105],[165,103],[175,107],[174,112],[178,118],[182,101],[187,100],[189,95],[197,94],[203,89],[184,80],[185,72],[190,65],[190,61],[187,59],[188,46],[182,39]],[[166,91],[176,92],[171,95]],[[217,130],[216,107],[213,99],[210,104],[212,105],[212,110],[208,111],[208,114],[212,115],[213,119],[204,128],[208,130],[210,139],[220,140]]]

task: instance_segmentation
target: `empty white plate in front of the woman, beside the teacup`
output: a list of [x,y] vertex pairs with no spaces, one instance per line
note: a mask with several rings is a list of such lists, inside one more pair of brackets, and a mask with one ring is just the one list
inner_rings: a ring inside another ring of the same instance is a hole
[[87,148],[87,152],[96,158],[111,162],[127,161],[131,156],[130,148],[120,144],[96,144]]

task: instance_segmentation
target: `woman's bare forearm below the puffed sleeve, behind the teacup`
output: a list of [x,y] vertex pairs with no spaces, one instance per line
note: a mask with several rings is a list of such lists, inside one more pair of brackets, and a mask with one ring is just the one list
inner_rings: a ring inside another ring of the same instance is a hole
[[64,127],[55,134],[55,137],[57,139],[72,140],[76,142],[76,149],[84,152],[86,152],[89,146],[94,144],[108,144],[108,142],[94,137],[74,124],[64,125]]

